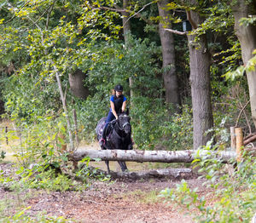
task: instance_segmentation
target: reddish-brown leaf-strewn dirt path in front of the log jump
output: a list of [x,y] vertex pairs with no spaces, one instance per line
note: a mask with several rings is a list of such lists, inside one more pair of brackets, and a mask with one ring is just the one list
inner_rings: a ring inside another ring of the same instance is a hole
[[[164,183],[166,184],[166,183]],[[102,188],[102,186],[104,188]],[[144,200],[145,192],[159,190],[161,183],[106,183],[87,192],[52,192],[29,200],[30,211],[45,210],[49,215],[64,215],[78,222],[192,222],[189,216],[179,213],[161,201]],[[139,191],[131,191],[136,189]],[[44,197],[44,198],[42,198]]]

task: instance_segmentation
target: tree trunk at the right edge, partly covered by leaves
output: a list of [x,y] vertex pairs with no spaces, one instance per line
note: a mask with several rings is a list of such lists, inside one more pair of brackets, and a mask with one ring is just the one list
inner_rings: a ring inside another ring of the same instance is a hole
[[[253,1],[253,3],[249,4],[245,0],[238,0],[236,6],[233,7],[235,31],[241,44],[241,58],[244,65],[253,57],[253,50],[256,49],[256,26],[255,23],[250,26],[240,26],[239,20],[241,18],[247,18],[251,12],[255,14],[255,2],[256,1]],[[247,83],[249,87],[253,123],[256,128],[256,71],[247,71]]]

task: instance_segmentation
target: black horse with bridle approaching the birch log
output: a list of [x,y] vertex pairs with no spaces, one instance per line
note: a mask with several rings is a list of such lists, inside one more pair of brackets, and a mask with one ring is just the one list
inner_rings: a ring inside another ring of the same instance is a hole
[[[118,119],[108,123],[107,128],[104,129],[105,120],[107,117],[102,117],[96,126],[97,139],[102,138],[102,131],[106,131],[105,144],[101,146],[102,150],[131,150],[131,123],[129,111],[118,114]],[[109,161],[105,161],[110,173]],[[122,171],[127,170],[125,161],[118,161]]]

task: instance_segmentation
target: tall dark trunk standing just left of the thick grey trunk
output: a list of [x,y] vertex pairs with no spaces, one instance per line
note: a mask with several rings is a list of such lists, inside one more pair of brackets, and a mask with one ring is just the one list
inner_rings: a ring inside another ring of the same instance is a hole
[[172,32],[165,31],[166,28],[172,29],[171,12],[165,9],[167,3],[170,3],[170,1],[161,0],[157,3],[160,14],[159,34],[163,57],[162,67],[166,69],[163,72],[163,80],[166,89],[166,103],[172,104],[178,111],[177,106],[180,105],[180,94],[175,66],[174,38]]

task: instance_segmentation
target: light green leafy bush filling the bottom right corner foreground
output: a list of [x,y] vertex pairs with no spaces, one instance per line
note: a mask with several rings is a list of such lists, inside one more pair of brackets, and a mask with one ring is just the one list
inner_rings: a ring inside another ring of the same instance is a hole
[[[193,214],[196,222],[250,222],[256,209],[255,158],[244,153],[243,161],[237,167],[230,161],[227,173],[226,164],[221,159],[212,158],[211,152],[216,151],[216,147],[211,147],[208,143],[204,149],[209,152],[194,161],[205,179],[204,186],[214,189],[207,197],[201,196],[197,189],[190,189],[185,180],[176,190],[166,188],[160,197],[185,209],[197,209],[199,214]],[[209,200],[211,197],[215,199]]]

